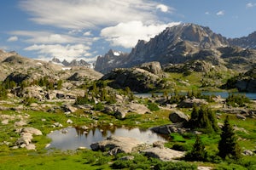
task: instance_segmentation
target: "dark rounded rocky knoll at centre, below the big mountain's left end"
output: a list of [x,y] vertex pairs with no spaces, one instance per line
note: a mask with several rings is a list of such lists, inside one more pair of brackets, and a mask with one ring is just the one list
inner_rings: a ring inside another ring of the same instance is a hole
[[143,93],[160,86],[160,77],[139,68],[114,69],[102,77],[110,80],[108,85],[112,88],[131,88],[131,91]]

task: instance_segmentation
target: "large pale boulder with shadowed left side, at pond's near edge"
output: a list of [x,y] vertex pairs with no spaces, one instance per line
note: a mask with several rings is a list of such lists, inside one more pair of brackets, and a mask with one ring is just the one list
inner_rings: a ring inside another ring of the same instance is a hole
[[139,144],[143,144],[137,139],[111,136],[107,140],[101,142],[90,144],[91,150],[108,150],[108,154],[116,155],[118,153],[131,153],[131,151],[136,148]]

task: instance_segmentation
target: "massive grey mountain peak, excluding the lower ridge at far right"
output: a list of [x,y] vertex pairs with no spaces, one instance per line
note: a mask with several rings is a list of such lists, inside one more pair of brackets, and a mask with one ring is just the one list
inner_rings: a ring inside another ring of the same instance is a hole
[[227,45],[229,42],[225,37],[212,32],[208,27],[182,24],[166,28],[148,42],[139,40],[130,54],[116,56],[110,50],[108,54],[98,57],[95,69],[106,72],[113,68],[131,67],[151,61],[159,61],[161,65],[183,63],[198,57],[195,54],[202,49]]

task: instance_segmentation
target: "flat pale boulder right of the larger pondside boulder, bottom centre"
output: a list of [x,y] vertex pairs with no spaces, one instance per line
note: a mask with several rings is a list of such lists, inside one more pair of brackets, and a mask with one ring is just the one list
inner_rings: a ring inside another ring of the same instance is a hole
[[185,155],[183,151],[172,150],[169,148],[154,147],[142,151],[145,156],[158,158],[161,161],[173,161]]

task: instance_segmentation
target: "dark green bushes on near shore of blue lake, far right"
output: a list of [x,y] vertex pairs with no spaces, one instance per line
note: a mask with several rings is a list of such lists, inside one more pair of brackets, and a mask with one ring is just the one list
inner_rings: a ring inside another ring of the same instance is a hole
[[250,103],[250,99],[241,94],[229,94],[229,97],[226,99],[226,103],[227,105],[231,105],[233,107],[243,107],[246,103]]

